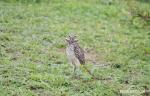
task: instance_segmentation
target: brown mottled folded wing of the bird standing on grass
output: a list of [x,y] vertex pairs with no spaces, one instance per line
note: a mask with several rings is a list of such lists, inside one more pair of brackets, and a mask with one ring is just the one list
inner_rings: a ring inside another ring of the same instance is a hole
[[74,47],[74,53],[80,64],[85,64],[84,50],[80,46],[77,45]]

